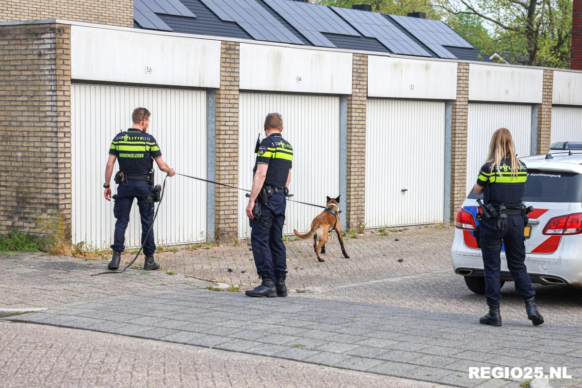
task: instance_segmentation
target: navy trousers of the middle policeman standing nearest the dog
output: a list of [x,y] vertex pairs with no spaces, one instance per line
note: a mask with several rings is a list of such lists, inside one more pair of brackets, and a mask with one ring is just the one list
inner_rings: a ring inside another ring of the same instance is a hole
[[253,222],[251,247],[257,273],[268,275],[271,279],[285,279],[287,256],[283,244],[283,223],[285,223],[285,194],[275,193],[268,204],[261,204],[261,220],[271,227]]

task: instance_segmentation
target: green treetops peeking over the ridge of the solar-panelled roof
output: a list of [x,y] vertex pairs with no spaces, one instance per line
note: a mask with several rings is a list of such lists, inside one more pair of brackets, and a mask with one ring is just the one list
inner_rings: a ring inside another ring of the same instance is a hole
[[408,12],[424,12],[427,19],[441,20],[444,13],[427,0],[319,0],[318,3],[342,8],[352,8],[353,4],[368,4],[372,11],[404,15]]

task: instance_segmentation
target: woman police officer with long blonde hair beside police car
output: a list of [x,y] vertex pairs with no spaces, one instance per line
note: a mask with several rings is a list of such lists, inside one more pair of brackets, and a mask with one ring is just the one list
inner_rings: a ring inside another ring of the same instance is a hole
[[[501,301],[502,243],[509,272],[515,288],[526,302],[527,318],[534,325],[544,323],[544,318],[535,307],[535,291],[527,274],[526,247],[524,245],[523,192],[526,187],[527,169],[517,160],[511,133],[499,128],[489,144],[489,157],[479,172],[475,193],[483,194],[481,209],[480,245],[485,276],[485,297],[489,313],[479,319],[483,325],[501,326],[499,302]],[[488,206],[491,205],[491,206]]]

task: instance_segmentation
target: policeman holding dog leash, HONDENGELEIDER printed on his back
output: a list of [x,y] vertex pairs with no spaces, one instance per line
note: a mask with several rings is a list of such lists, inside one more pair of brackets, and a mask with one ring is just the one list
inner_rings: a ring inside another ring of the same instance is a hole
[[[119,158],[119,173],[123,176],[123,181],[117,187],[115,205],[113,205],[113,215],[117,219],[115,223],[115,234],[113,235],[113,257],[107,268],[118,269],[121,259],[121,252],[125,250],[125,229],[129,223],[129,212],[132,210],[133,200],[137,198],[141,217],[141,243],[144,243],[145,234],[152,222],[154,222],[154,205],[152,202],[144,202],[149,196],[153,186],[150,172],[153,172],[153,161],[158,164],[158,168],[168,176],[174,176],[176,172],[168,166],[162,159],[162,152],[159,149],[155,138],[146,133],[150,125],[150,111],[145,108],[136,108],[132,114],[133,127],[127,131],[120,132],[113,138],[109,147],[109,159],[105,168],[105,199],[111,201],[111,188],[109,180],[113,173],[115,160]],[[155,243],[154,231],[151,230],[145,239],[144,245],[145,270],[159,269],[159,264],[154,261]]]

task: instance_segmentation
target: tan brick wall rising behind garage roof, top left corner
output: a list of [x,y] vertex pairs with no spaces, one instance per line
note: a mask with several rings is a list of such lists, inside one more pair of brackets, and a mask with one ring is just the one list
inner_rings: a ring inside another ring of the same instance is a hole
[[45,19],[133,27],[133,0],[0,0],[0,22]]

